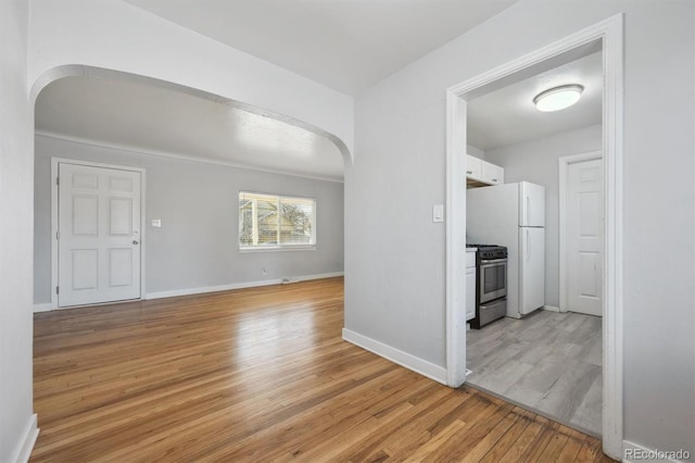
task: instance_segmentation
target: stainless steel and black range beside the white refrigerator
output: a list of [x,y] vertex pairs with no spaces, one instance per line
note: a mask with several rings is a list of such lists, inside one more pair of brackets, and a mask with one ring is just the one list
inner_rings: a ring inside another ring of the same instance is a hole
[[507,248],[496,245],[466,245],[476,252],[476,317],[471,328],[507,314]]

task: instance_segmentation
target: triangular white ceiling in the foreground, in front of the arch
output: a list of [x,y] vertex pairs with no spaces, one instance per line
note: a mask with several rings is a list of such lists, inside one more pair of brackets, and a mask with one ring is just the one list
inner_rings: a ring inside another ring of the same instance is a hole
[[356,95],[518,0],[125,0]]

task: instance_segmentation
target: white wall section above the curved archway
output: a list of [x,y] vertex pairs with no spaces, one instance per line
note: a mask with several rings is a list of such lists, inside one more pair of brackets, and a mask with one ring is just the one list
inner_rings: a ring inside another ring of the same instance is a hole
[[159,78],[294,117],[352,153],[353,98],[282,67],[119,0],[31,0],[30,18],[29,86],[74,64]]

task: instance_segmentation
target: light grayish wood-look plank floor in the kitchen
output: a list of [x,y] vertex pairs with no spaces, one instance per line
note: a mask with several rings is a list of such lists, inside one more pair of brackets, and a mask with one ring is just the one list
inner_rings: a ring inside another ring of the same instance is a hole
[[594,436],[602,434],[601,317],[536,311],[466,338],[470,385]]

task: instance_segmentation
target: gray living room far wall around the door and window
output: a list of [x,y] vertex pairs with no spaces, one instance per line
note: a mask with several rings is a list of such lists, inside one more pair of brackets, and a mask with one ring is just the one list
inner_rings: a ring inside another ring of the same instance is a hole
[[[343,271],[343,184],[36,136],[35,303],[50,301],[51,157],[147,170],[147,293]],[[316,250],[240,252],[240,190],[315,198]]]

